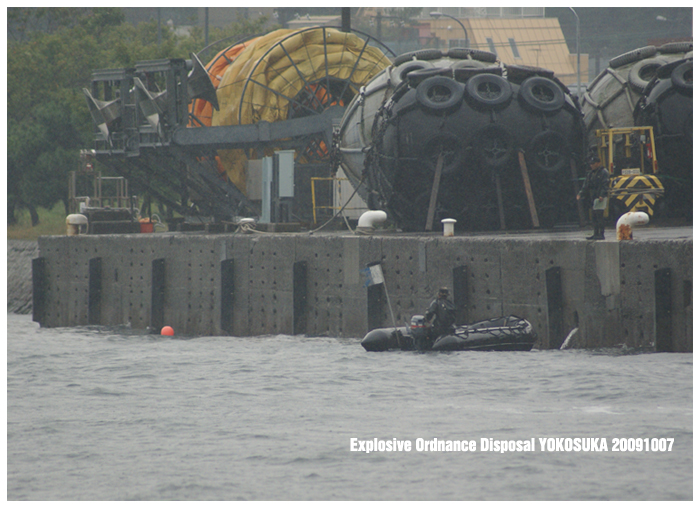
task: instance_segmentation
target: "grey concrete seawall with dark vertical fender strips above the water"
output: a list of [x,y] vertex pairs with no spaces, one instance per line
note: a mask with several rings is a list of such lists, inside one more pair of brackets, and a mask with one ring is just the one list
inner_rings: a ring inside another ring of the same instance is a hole
[[33,261],[42,326],[121,325],[182,335],[362,337],[451,288],[460,322],[515,314],[536,347],[692,351],[692,230],[589,242],[563,235],[165,233],[42,237]]

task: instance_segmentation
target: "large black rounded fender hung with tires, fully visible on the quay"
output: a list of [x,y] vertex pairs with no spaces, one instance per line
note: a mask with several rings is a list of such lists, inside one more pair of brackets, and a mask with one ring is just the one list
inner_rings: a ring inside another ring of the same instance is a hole
[[[354,169],[364,173],[370,207],[387,210],[404,230],[424,229],[439,166],[435,227],[448,217],[462,230],[532,227],[523,152],[540,224],[577,221],[572,161],[576,171],[583,124],[553,72],[454,48],[401,55],[381,87],[380,78],[360,98],[364,118],[350,111],[343,122],[345,131],[364,127],[355,141],[368,153]],[[367,93],[374,90],[376,99]]]

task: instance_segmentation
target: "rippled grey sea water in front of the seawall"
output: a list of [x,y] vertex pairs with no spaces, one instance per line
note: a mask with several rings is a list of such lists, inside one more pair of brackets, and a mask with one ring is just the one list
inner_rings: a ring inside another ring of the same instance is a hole
[[[7,318],[8,500],[692,499],[691,354],[367,353]],[[416,449],[434,438],[476,450]]]

